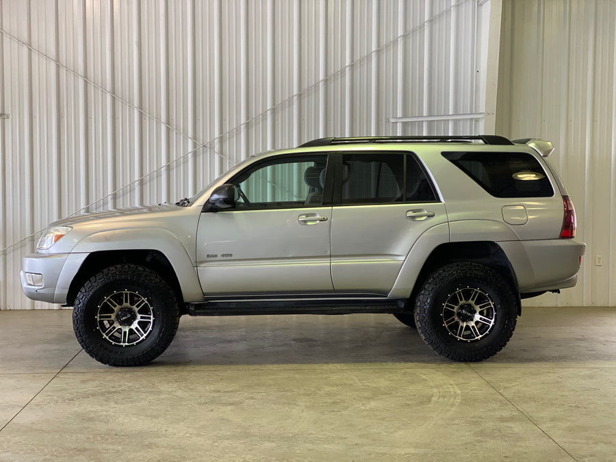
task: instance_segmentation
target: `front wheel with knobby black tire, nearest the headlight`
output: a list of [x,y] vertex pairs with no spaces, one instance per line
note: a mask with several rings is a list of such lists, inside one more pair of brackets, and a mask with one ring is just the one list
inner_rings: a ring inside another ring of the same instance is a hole
[[92,358],[114,366],[153,361],[170,345],[178,323],[172,287],[157,272],[134,264],[94,274],[73,307],[79,344]]

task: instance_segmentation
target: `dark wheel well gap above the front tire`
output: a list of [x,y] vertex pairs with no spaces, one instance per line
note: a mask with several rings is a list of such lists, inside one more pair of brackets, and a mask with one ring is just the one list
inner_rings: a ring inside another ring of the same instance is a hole
[[70,283],[68,294],[66,295],[66,305],[69,307],[74,305],[77,293],[84,283],[86,283],[90,277],[94,276],[94,274],[110,266],[124,263],[146,266],[160,274],[161,277],[170,283],[180,305],[183,305],[182,291],[175,270],[163,253],[153,250],[101,251],[90,253],[84,260],[84,263],[81,264],[79,272],[77,272],[73,281]]

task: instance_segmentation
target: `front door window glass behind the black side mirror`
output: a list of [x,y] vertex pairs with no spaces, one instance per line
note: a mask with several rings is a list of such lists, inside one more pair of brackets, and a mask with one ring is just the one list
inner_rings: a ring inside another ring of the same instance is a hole
[[233,181],[238,208],[318,207],[323,202],[327,155],[285,157]]

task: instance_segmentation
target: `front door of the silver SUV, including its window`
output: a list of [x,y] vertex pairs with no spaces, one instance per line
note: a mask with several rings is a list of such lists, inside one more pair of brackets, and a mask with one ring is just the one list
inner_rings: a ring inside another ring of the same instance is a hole
[[333,292],[327,157],[272,157],[231,179],[235,206],[199,219],[197,266],[206,296]]

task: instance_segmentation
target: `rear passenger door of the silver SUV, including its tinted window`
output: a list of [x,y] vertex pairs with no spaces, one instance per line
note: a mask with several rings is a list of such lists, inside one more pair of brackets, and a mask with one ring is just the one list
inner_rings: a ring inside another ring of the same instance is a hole
[[335,292],[387,294],[413,243],[447,221],[415,155],[337,155],[331,212],[331,276]]

